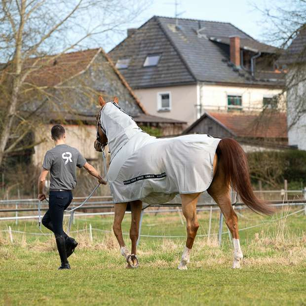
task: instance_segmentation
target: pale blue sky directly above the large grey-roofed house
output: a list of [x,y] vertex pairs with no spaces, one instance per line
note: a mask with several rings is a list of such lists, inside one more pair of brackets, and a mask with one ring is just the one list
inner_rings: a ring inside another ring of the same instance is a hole
[[[179,18],[229,22],[251,37],[263,41],[264,28],[261,25],[263,14],[254,6],[255,0],[177,0],[178,13],[183,13]],[[121,35],[115,35],[104,46],[110,51],[115,45],[127,36],[127,28],[139,28],[151,17],[175,16],[175,0],[153,0],[152,4],[142,12],[137,21],[131,22],[128,27],[122,28]],[[271,0],[256,0],[256,5],[264,9],[271,4]]]

